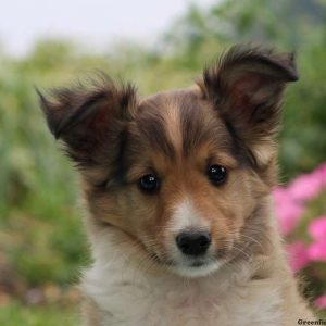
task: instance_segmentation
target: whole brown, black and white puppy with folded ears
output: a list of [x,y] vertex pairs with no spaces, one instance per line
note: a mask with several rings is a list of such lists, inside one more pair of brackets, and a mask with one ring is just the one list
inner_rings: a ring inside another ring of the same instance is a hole
[[273,213],[290,54],[235,46],[196,87],[139,98],[102,76],[40,95],[82,174],[93,264],[88,326],[313,319]]

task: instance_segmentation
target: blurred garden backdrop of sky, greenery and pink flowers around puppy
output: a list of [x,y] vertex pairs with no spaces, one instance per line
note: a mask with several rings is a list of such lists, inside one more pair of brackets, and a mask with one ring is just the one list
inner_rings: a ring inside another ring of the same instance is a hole
[[17,1],[0,11],[0,325],[78,325],[89,264],[76,174],[34,87],[97,70],[147,95],[189,86],[235,42],[297,52],[275,203],[293,273],[326,316],[326,1]]

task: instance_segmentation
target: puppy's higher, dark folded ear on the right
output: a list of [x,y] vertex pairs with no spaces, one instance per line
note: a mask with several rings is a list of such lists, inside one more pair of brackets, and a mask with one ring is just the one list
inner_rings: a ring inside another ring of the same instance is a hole
[[272,145],[271,136],[278,129],[283,90],[296,80],[293,54],[234,46],[204,70],[200,87],[231,134],[253,154],[265,156],[268,149],[263,147]]

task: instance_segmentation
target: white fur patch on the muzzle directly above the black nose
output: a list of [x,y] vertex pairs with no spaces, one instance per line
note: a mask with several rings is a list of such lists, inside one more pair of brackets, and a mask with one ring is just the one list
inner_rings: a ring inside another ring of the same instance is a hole
[[208,227],[208,222],[203,218],[200,212],[195,208],[190,198],[185,198],[176,204],[174,214],[171,218],[170,229],[179,233],[191,227]]

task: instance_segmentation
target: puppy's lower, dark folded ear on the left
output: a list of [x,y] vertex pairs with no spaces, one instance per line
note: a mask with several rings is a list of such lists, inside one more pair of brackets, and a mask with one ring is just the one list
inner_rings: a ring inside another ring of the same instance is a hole
[[108,164],[123,142],[137,108],[133,86],[116,86],[102,75],[88,85],[38,91],[48,126],[78,166]]

